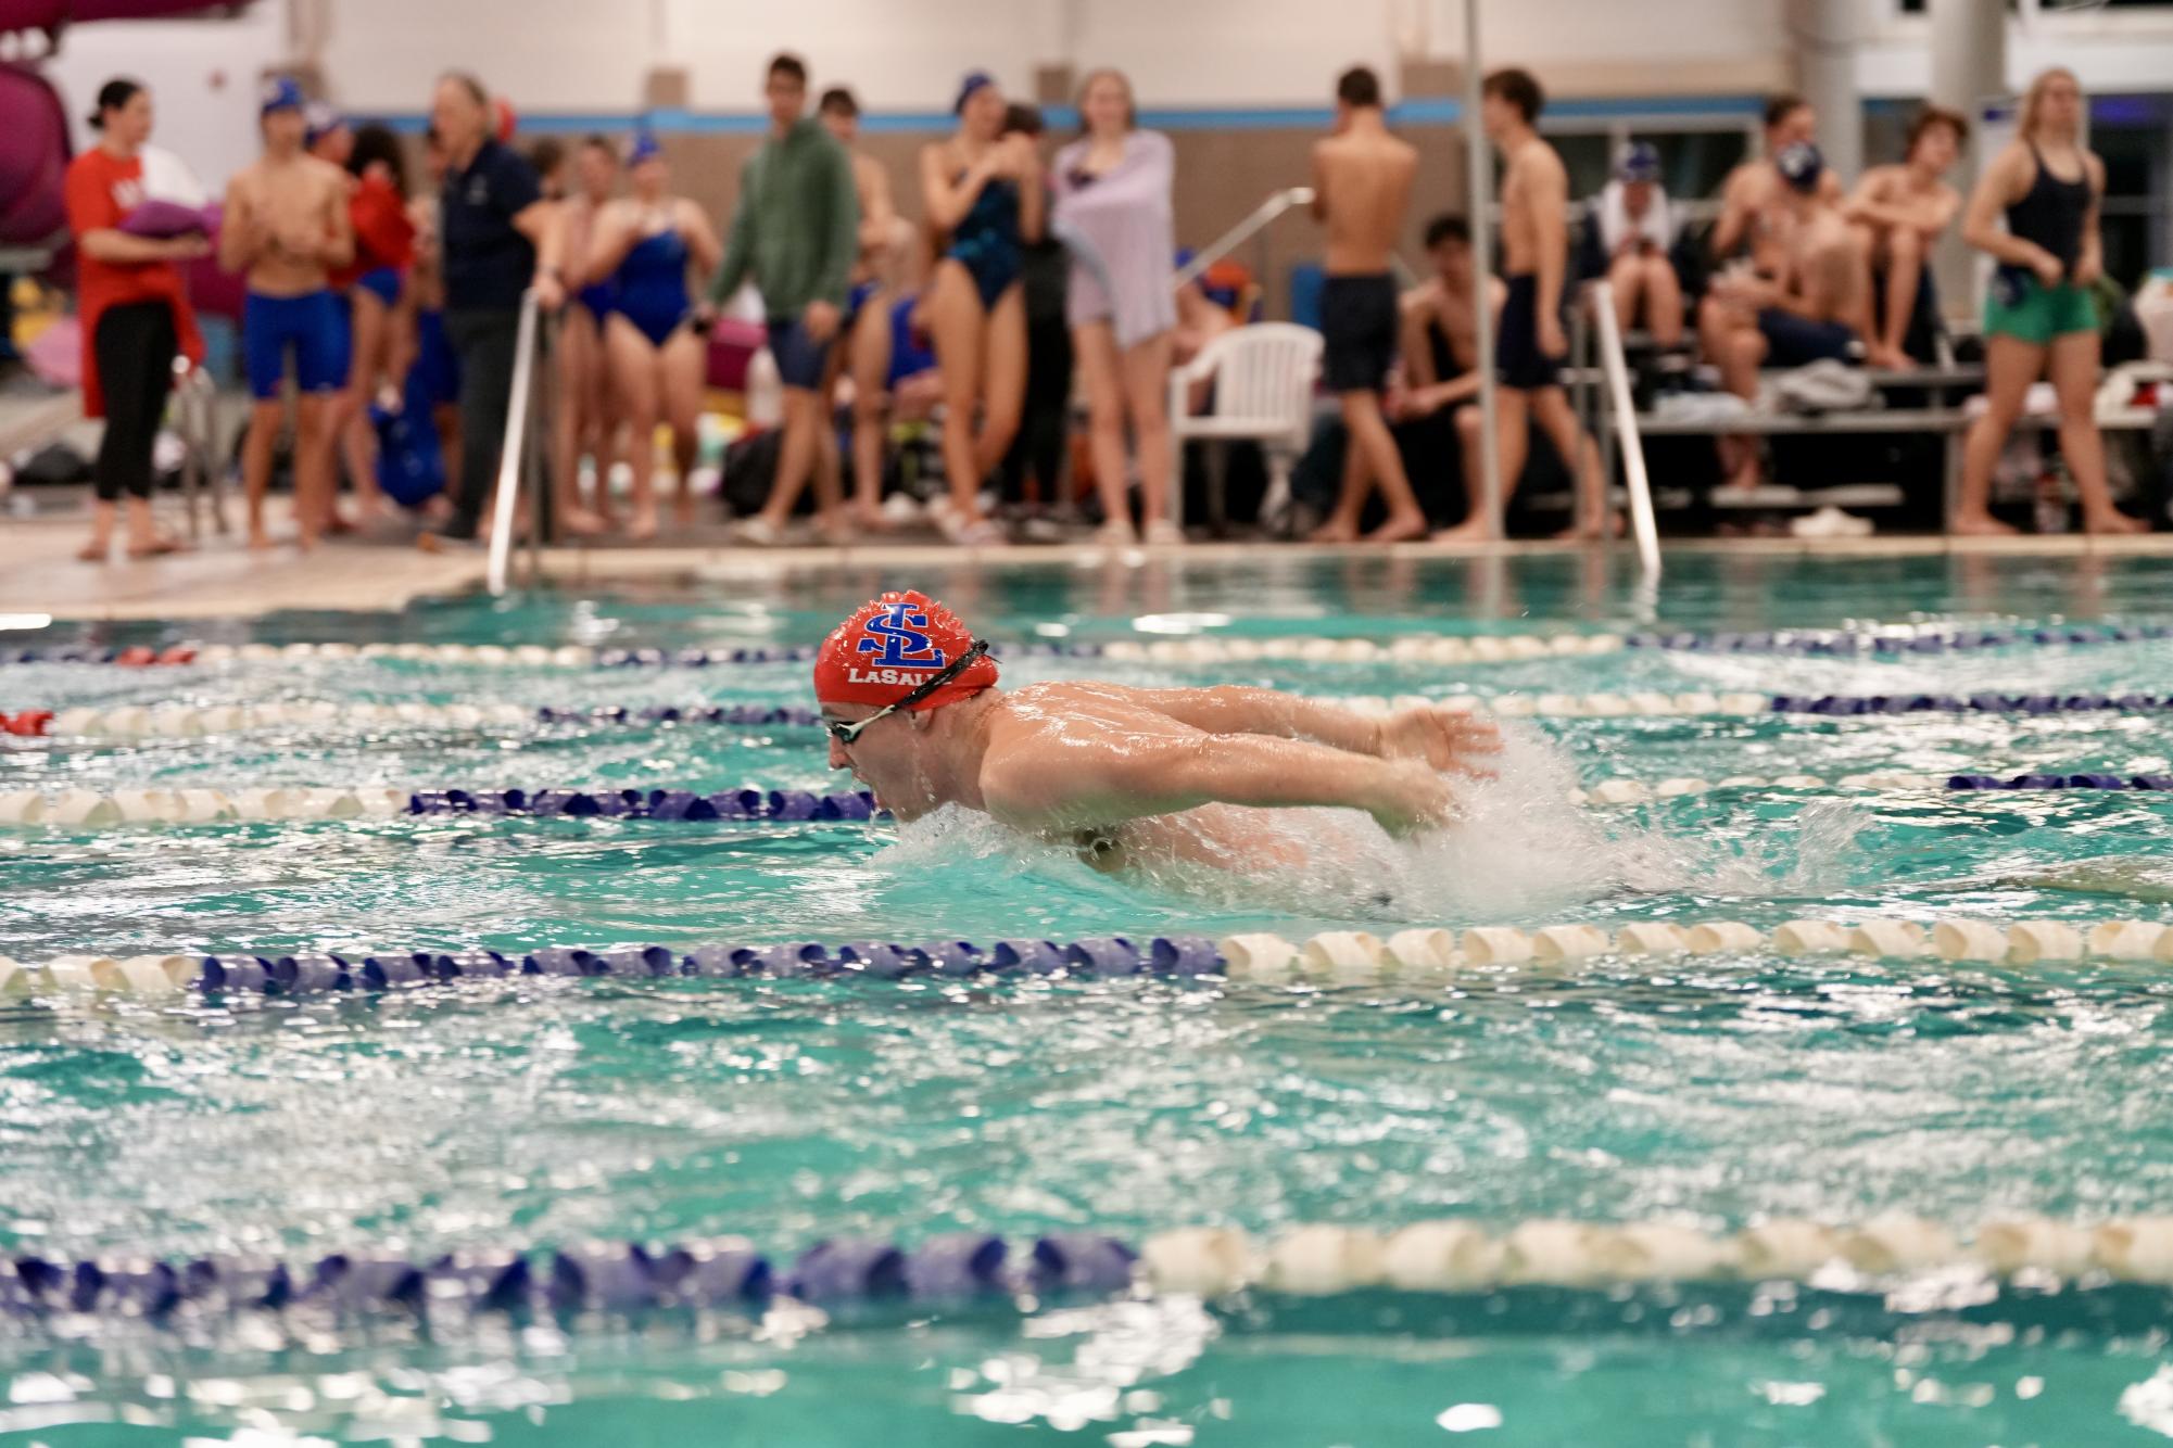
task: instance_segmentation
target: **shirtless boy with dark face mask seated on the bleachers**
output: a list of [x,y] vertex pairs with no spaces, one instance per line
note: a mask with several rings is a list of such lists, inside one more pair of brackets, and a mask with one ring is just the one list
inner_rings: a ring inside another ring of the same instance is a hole
[[[1714,360],[1721,384],[1743,399],[1758,395],[1762,365],[1856,360],[1871,332],[1862,252],[1830,200],[1825,158],[1810,141],[1797,141],[1782,148],[1773,165],[1786,185],[1780,274],[1719,276],[1708,295],[1719,306]],[[1721,462],[1730,486],[1758,484],[1758,449],[1743,439],[1721,439]]]

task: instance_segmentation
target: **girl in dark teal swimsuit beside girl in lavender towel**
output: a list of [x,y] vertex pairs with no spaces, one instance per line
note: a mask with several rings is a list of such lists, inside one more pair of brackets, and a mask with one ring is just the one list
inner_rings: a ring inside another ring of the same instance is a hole
[[[1041,158],[1004,135],[1004,93],[974,72],[958,87],[958,130],[921,150],[928,224],[950,237],[928,282],[928,330],[943,371],[943,471],[954,543],[1002,543],[980,512],[980,484],[1019,430],[1026,402],[1026,295],[1019,245],[1041,239]],[[974,415],[980,412],[980,430]]]

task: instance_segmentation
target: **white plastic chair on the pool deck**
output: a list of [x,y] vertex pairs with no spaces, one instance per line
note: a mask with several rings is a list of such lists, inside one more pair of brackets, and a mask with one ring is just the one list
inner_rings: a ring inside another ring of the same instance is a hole
[[[1254,441],[1267,454],[1267,497],[1260,517],[1291,506],[1291,465],[1312,430],[1312,382],[1321,373],[1321,334],[1289,321],[1256,321],[1223,332],[1169,373],[1171,517],[1184,523],[1184,443]],[[1208,410],[1189,406],[1195,382],[1215,382]],[[1221,469],[1213,510],[1221,521]]]

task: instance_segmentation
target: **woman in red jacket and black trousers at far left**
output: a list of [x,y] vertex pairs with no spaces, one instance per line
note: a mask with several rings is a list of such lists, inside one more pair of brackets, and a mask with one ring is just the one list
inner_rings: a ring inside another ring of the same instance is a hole
[[98,145],[67,163],[67,230],[76,237],[76,313],[83,321],[83,415],[104,417],[98,445],[98,506],[91,541],[78,558],[104,562],[113,525],[128,495],[128,556],[180,551],[150,517],[152,443],[174,384],[174,358],[204,360],[196,313],[174,263],[211,252],[198,232],[135,237],[122,228],[143,204],[143,141],[150,139],[150,91],[135,80],[106,80],[91,115]]

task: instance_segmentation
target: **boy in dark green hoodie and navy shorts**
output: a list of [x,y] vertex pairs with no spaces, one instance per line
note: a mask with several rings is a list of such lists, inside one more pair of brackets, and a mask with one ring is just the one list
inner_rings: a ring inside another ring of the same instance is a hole
[[708,326],[752,278],[769,321],[769,356],[784,382],[778,478],[769,506],[741,528],[750,543],[778,541],[815,467],[824,369],[845,315],[852,265],[861,258],[852,156],[821,122],[806,115],[808,72],[800,56],[776,56],[763,93],[769,100],[769,137],[739,172],[724,267],[695,313]]

